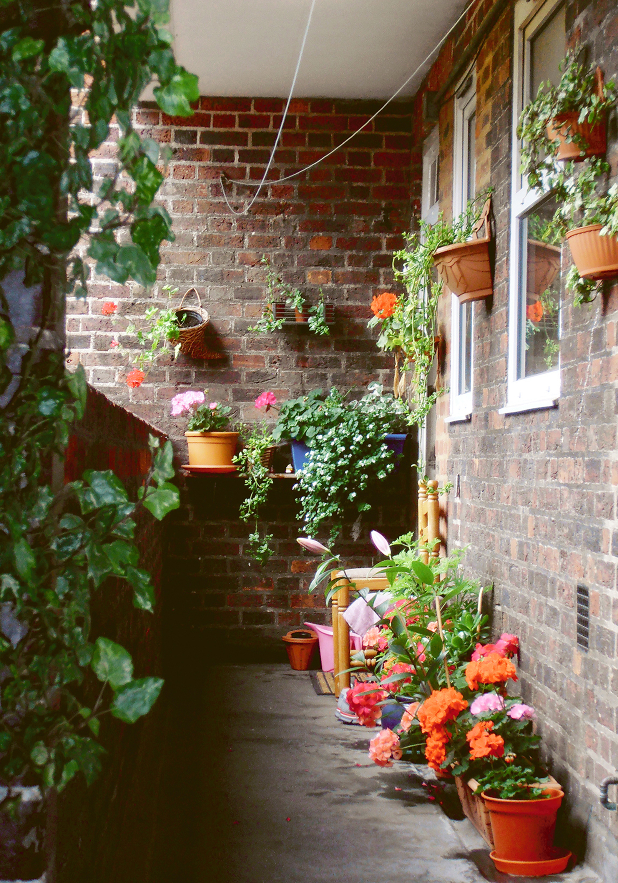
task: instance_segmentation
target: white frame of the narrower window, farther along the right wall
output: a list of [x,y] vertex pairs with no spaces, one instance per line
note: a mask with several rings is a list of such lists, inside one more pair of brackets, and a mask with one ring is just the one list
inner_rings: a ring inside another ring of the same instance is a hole
[[[468,147],[469,125],[472,114],[477,112],[477,79],[472,71],[465,77],[455,97],[454,132],[453,132],[453,217],[461,215],[474,192],[468,192]],[[476,188],[475,188],[476,189]],[[457,420],[469,420],[472,414],[472,390],[474,389],[474,308],[471,311],[471,386],[465,393],[458,393],[463,370],[461,361],[462,328],[460,322],[461,305],[459,298],[451,294],[451,346],[450,346],[450,416],[449,423]]]

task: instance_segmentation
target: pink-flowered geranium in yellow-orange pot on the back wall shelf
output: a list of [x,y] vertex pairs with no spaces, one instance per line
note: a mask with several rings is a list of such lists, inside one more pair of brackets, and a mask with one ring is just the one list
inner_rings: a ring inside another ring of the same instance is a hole
[[236,453],[238,433],[226,431],[231,408],[218,402],[207,403],[203,392],[179,393],[171,400],[172,417],[187,414],[185,437],[189,446],[189,465],[213,471],[235,471],[232,457]]

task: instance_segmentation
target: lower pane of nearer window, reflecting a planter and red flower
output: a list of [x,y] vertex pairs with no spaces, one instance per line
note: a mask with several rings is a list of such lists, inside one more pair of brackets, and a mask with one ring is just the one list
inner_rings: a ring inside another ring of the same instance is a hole
[[549,197],[524,217],[520,228],[524,258],[520,298],[523,377],[558,367],[561,246],[560,238],[556,241],[547,230],[554,211],[555,199]]

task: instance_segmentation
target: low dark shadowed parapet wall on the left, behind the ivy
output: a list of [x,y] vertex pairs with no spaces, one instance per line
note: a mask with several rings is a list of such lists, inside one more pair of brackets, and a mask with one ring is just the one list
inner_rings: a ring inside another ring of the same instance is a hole
[[[156,430],[101,393],[88,389],[87,409],[70,438],[65,480],[85,469],[113,469],[133,495],[150,466],[147,436]],[[118,641],[132,653],[136,677],[162,675],[162,558],[165,523],[148,513],[137,518],[139,565],[153,577],[155,614],[132,606],[132,590],[108,580],[93,601],[93,631]],[[92,679],[87,695],[96,698]],[[73,780],[59,800],[57,879],[59,883],[130,883],[150,879],[155,849],[156,803],[162,775],[165,690],[144,719],[127,726],[103,718],[108,751],[100,778],[90,788]],[[86,700],[87,701],[87,700]],[[113,843],[114,848],[109,849]]]

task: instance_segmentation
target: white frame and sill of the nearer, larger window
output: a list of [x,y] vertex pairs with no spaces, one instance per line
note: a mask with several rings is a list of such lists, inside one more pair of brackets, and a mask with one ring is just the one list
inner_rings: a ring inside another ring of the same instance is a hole
[[[530,190],[520,173],[520,141],[517,123],[530,92],[526,46],[542,26],[551,19],[564,0],[541,0],[531,8],[530,0],[517,0],[515,6],[515,51],[513,64],[513,140],[511,149],[511,224],[510,224],[510,285],[509,285],[509,366],[507,373],[507,404],[501,414],[533,411],[553,407],[560,397],[560,360],[557,368],[530,377],[519,377],[524,342],[521,337],[520,298],[524,255],[521,253],[521,225],[524,215],[546,199],[547,191]],[[560,313],[561,317],[561,313]],[[561,321],[561,318],[560,318]],[[559,330],[560,337],[560,330]]]

